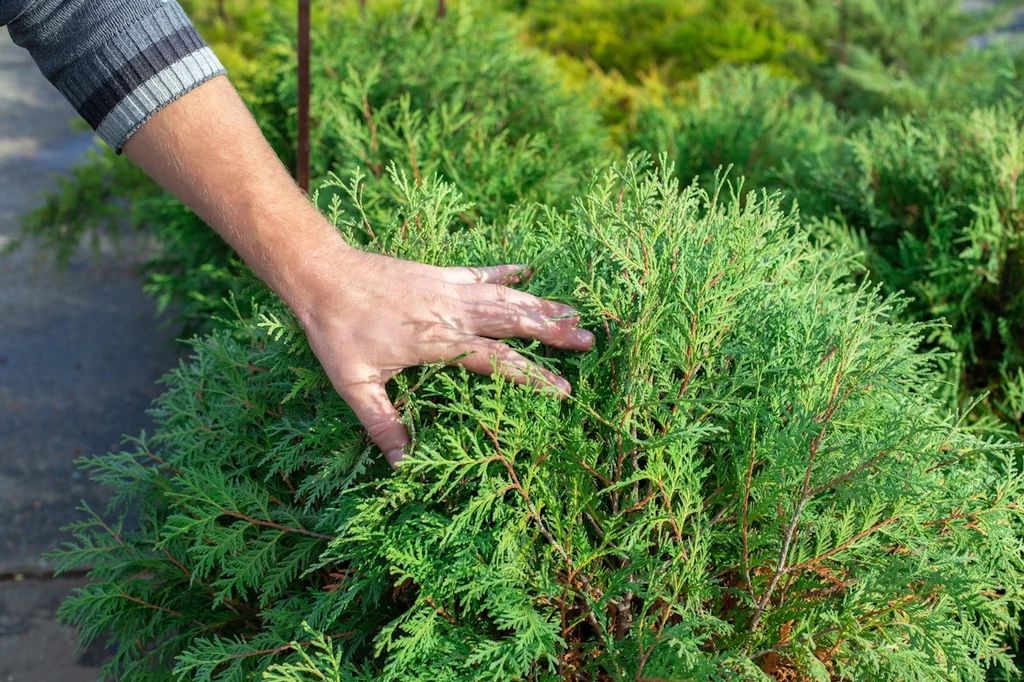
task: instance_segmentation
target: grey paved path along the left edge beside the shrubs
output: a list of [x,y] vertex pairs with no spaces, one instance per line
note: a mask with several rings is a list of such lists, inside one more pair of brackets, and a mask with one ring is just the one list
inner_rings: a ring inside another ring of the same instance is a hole
[[[0,28],[0,246],[91,143],[73,118]],[[85,255],[62,274],[31,249],[0,257],[0,682],[89,682],[103,656],[76,651],[56,624],[76,581],[46,580],[41,555],[66,540],[82,500],[103,508],[73,460],[152,430],[154,382],[176,361],[135,275],[138,245],[125,250],[134,255]]]

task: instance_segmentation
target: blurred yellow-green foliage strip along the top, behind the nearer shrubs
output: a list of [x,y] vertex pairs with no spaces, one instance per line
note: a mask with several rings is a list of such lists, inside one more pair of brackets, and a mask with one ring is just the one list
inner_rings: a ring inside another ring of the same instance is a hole
[[[424,0],[432,4],[430,0]],[[294,27],[289,0],[183,0],[232,80],[261,71],[267,38]],[[313,3],[313,27],[394,12],[407,0]],[[501,15],[523,43],[556,57],[566,85],[612,132],[638,109],[691,97],[718,65],[763,65],[854,115],[920,111],[937,100],[1005,96],[1019,84],[1006,49],[967,49],[1005,23],[1013,0],[965,12],[961,0],[449,0],[453,11]]]

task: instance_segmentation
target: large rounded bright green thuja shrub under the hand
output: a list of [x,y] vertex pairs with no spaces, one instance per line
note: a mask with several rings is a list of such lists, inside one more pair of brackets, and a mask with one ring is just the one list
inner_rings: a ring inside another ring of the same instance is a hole
[[[933,397],[904,302],[844,284],[774,199],[636,167],[510,239],[399,182],[373,248],[512,261],[597,332],[512,342],[565,400],[431,367],[396,473],[278,304],[197,340],[156,433],[89,460],[110,520],[60,609],[109,679],[983,680],[1024,579],[1010,446]],[[350,232],[358,215],[333,214]],[[420,230],[400,229],[418,220]],[[129,507],[137,524],[123,520]],[[171,672],[173,669],[173,673]]]

